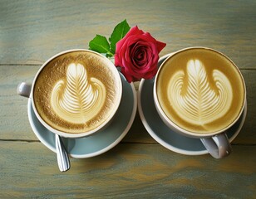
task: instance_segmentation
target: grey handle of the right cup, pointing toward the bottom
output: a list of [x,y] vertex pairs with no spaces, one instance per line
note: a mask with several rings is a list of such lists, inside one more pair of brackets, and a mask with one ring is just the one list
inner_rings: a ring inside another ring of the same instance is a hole
[[226,133],[220,133],[214,135],[211,138],[200,138],[204,147],[209,151],[214,158],[224,158],[232,152],[231,145],[229,143],[229,138]]

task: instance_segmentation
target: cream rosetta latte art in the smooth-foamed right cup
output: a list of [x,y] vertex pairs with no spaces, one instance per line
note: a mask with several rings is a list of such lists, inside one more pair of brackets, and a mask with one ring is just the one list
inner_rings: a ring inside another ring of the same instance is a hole
[[[168,99],[176,114],[190,124],[202,126],[221,118],[233,99],[229,79],[219,70],[207,75],[199,60],[188,61],[186,69],[186,74],[183,70],[177,71],[168,84]],[[214,80],[215,89],[209,80]]]

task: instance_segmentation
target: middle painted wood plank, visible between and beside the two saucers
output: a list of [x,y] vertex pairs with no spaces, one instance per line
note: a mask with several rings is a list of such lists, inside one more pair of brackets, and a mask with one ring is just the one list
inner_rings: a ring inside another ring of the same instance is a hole
[[[17,84],[32,82],[40,66],[0,66],[0,138],[37,140],[27,119],[27,99],[16,94]],[[242,70],[248,92],[248,115],[234,143],[256,143],[254,121],[256,119],[256,70]],[[137,87],[137,86],[136,86]],[[146,132],[137,114],[124,142],[155,143]]]

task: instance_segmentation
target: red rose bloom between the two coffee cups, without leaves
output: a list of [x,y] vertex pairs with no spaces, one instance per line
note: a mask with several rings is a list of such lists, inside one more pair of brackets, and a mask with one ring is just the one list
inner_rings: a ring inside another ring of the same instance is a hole
[[151,79],[157,72],[160,51],[165,43],[156,41],[149,32],[132,27],[126,36],[116,43],[115,65],[131,82],[141,78]]

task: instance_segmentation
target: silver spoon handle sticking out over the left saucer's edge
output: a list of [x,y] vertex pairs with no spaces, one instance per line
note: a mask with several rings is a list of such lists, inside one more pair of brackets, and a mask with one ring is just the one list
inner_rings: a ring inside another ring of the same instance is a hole
[[70,162],[62,138],[59,135],[55,135],[55,144],[57,152],[57,163],[61,172],[66,172],[70,169]]

